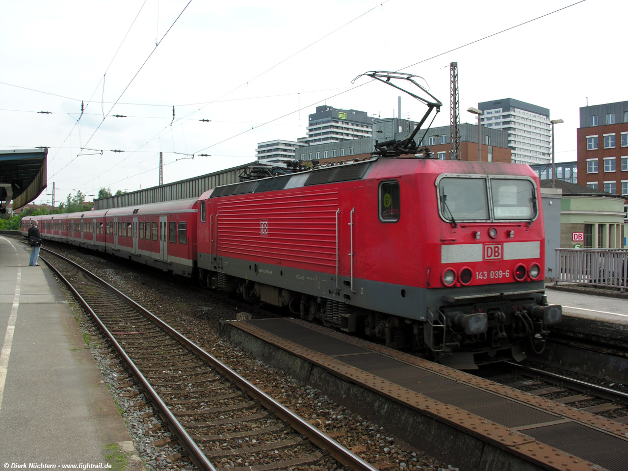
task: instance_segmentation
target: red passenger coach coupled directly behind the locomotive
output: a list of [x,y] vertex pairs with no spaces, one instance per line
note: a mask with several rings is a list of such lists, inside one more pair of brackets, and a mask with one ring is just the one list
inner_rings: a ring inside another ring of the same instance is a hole
[[107,252],[183,276],[197,257],[195,198],[107,210]]

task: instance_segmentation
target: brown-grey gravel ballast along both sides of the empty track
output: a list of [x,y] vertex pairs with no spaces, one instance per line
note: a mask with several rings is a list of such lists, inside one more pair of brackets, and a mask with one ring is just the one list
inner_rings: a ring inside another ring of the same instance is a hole
[[[57,248],[62,253],[85,268],[113,284],[127,296],[136,300],[146,309],[158,315],[162,320],[196,342],[200,347],[210,352],[219,360],[229,365],[243,377],[254,382],[267,394],[279,399],[284,406],[290,408],[301,417],[308,420],[313,426],[330,434],[345,447],[352,450],[375,467],[386,470],[414,471],[414,470],[456,470],[454,465],[443,463],[429,458],[421,450],[408,448],[399,443],[394,436],[384,428],[365,420],[340,404],[331,401],[317,389],[296,381],[268,365],[263,364],[251,354],[240,350],[218,335],[219,320],[229,320],[236,317],[241,306],[234,307],[230,300],[212,296],[200,289],[178,283],[175,279],[161,276],[151,270],[144,270],[127,263],[114,263],[100,257],[73,251],[67,248]],[[192,463],[186,460],[170,462],[169,455],[180,453],[185,455],[178,445],[168,444],[163,447],[153,445],[154,440],[171,438],[167,426],[161,423],[156,411],[149,404],[136,385],[124,386],[131,382],[126,374],[120,372],[122,364],[117,355],[112,352],[107,340],[100,335],[94,323],[86,315],[82,306],[77,305],[63,287],[63,291],[77,317],[77,322],[83,332],[90,335],[90,349],[103,374],[104,381],[110,388],[114,401],[123,411],[124,419],[133,437],[140,457],[148,469],[192,469]],[[124,397],[124,393],[138,393],[133,397]],[[153,416],[142,417],[152,413]],[[159,430],[152,430],[153,426],[161,426]],[[261,440],[254,437],[254,440]],[[224,441],[222,443],[225,443]],[[222,445],[220,443],[220,445]],[[242,445],[241,445],[242,446]],[[204,445],[203,445],[204,447]],[[215,447],[211,445],[212,448]],[[277,450],[279,455],[288,456],[293,448]],[[270,455],[271,453],[268,453]],[[249,465],[259,463],[258,457],[251,457]],[[265,456],[263,458],[268,458]],[[249,459],[249,458],[247,458]],[[217,465],[219,463],[216,463]],[[241,466],[242,462],[232,462],[229,457],[222,458],[220,465]],[[246,462],[244,463],[246,465]],[[332,458],[323,457],[315,466],[295,467],[302,471],[330,471],[343,468]]]

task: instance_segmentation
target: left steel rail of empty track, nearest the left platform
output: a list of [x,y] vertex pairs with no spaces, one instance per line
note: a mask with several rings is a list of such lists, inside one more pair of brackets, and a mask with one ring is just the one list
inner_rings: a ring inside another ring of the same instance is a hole
[[[57,257],[62,258],[64,261],[67,261],[68,263],[74,264],[72,261],[66,259],[65,257],[61,255],[56,254],[53,251],[50,251],[48,249],[44,249],[44,250],[46,252],[50,252],[51,254],[54,254]],[[153,389],[153,387],[150,385],[146,377],[144,377],[144,375],[139,371],[138,367],[134,364],[133,360],[131,360],[131,358],[129,358],[126,352],[124,352],[124,349],[122,349],[122,346],[117,342],[116,338],[114,338],[114,336],[106,327],[106,325],[102,323],[98,315],[94,312],[94,310],[92,310],[92,308],[89,306],[87,301],[85,301],[83,296],[81,296],[78,293],[78,291],[74,288],[74,286],[72,286],[72,283],[70,283],[70,281],[68,281],[68,279],[65,278],[65,276],[63,276],[63,274],[53,264],[50,263],[50,261],[46,260],[45,257],[41,257],[41,259],[43,259],[46,265],[48,265],[48,267],[52,271],[54,271],[59,278],[63,280],[63,283],[67,284],[68,288],[70,289],[70,291],[72,291],[73,295],[77,297],[78,301],[80,301],[80,303],[85,307],[85,309],[90,313],[92,318],[94,318],[95,322],[99,325],[99,327],[105,333],[107,338],[109,338],[111,343],[116,348],[118,354],[121,356],[122,361],[124,361],[127,367],[129,367],[133,376],[136,377],[136,379],[141,384],[141,387],[144,390],[144,393],[147,396],[149,396],[150,401],[160,411],[161,418],[163,418],[163,420],[165,420],[166,423],[168,423],[168,428],[170,428],[170,430],[173,431],[173,433],[175,433],[176,438],[179,440],[183,448],[185,448],[185,450],[187,450],[187,452],[190,453],[190,458],[195,463],[195,465],[197,465],[203,471],[217,471],[216,468],[214,468],[214,465],[212,465],[212,463],[207,459],[207,456],[205,456],[205,453],[203,453],[203,451],[200,448],[198,448],[198,445],[195,443],[195,441],[192,440],[190,435],[188,435],[187,431],[185,431],[181,423],[178,420],[176,420],[173,413],[171,413],[170,409],[168,409],[168,406],[166,406],[166,404],[161,400],[159,394]],[[74,265],[77,266],[78,268],[81,268],[80,266],[76,264]],[[91,274],[89,273],[89,271],[85,269],[84,271],[86,271],[88,274]],[[102,282],[106,283],[105,281],[102,281]]]

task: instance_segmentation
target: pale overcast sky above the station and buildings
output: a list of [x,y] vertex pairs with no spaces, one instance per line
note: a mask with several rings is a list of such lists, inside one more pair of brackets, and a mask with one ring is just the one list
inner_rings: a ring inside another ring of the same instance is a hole
[[[565,120],[556,160],[575,160],[587,97],[627,99],[627,2],[586,0],[426,60],[575,1],[192,0],[168,31],[188,0],[1,0],[0,148],[50,148],[37,202],[50,202],[53,181],[57,201],[148,188],[160,151],[164,181],[176,181],[253,161],[258,142],[305,136],[320,104],[393,116],[396,90],[364,78],[353,88],[367,70],[424,77],[443,102],[434,125],[446,126],[456,61],[462,122],[486,100],[547,107]],[[411,119],[425,112],[402,100]],[[176,161],[185,154],[197,156]]]

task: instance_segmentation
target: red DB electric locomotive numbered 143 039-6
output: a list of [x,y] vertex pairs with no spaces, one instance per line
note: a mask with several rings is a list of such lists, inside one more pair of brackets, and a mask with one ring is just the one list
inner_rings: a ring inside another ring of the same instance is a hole
[[540,198],[528,166],[430,158],[218,187],[200,198],[200,278],[458,367],[521,359],[561,317]]

